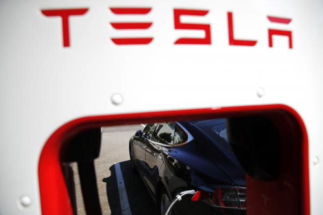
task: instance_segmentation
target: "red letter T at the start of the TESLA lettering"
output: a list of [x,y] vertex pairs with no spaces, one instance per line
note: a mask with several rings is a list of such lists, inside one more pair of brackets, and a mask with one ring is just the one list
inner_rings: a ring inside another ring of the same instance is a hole
[[83,15],[88,11],[88,8],[78,9],[48,9],[41,10],[45,16],[60,16],[62,18],[63,31],[63,47],[70,46],[70,31],[69,31],[69,16]]

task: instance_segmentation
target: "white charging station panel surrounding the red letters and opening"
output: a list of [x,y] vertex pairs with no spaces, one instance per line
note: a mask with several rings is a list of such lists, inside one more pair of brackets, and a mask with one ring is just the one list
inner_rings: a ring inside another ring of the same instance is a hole
[[[46,139],[83,116],[152,110],[282,103],[303,118],[310,159],[323,160],[323,9],[316,0],[1,0],[0,1],[0,214],[40,214],[37,166]],[[152,7],[148,15],[112,14],[108,7]],[[40,9],[89,8],[70,17],[71,47],[62,47],[60,18]],[[174,45],[201,36],[174,29],[174,8],[208,9],[184,22],[211,24],[212,45]],[[229,46],[228,11],[238,39]],[[271,23],[267,15],[292,18]],[[127,18],[128,17],[128,18]],[[149,30],[117,31],[111,21],[152,21]],[[268,28],[293,32],[268,47]],[[111,37],[152,36],[148,45],[117,46]],[[259,98],[258,87],[265,95]],[[114,106],[113,93],[124,102]],[[312,160],[311,160],[312,161]],[[323,166],[310,162],[311,212],[321,215]],[[50,185],[49,185],[50,186]],[[18,206],[21,195],[32,205]]]

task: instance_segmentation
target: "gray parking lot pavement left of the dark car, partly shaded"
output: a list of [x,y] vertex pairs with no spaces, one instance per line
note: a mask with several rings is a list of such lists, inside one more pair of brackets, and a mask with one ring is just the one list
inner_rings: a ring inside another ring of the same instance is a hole
[[[114,163],[119,162],[132,215],[156,215],[157,210],[138,174],[131,171],[129,139],[141,125],[105,127],[101,140],[100,157],[95,160],[99,198],[103,215],[121,215]],[[77,164],[73,163],[77,214],[86,215]]]

